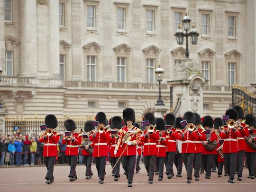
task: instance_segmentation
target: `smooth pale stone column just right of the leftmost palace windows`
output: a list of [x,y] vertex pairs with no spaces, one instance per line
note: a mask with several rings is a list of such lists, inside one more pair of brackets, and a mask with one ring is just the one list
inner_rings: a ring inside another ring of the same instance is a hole
[[20,0],[20,76],[37,73],[37,1]]

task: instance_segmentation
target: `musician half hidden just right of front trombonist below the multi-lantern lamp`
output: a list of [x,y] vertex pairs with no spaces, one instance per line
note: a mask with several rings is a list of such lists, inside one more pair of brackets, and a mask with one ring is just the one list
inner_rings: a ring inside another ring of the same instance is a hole
[[199,181],[199,171],[200,171],[200,167],[201,167],[201,159],[202,159],[202,151],[203,151],[203,146],[202,146],[202,141],[206,140],[205,137],[205,129],[201,126],[201,117],[198,113],[195,113],[195,126],[196,126],[196,130],[197,130],[197,134],[198,134],[198,139],[195,139],[195,147],[196,147],[196,151],[195,151],[195,158],[194,158],[194,176],[195,176],[195,180]]

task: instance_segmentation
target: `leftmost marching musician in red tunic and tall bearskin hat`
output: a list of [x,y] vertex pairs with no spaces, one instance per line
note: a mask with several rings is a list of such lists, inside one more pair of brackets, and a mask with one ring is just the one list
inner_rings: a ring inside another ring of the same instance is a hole
[[[47,115],[45,118],[46,128],[53,129],[58,126],[58,121],[55,115]],[[46,129],[47,130],[47,129]],[[54,164],[57,156],[57,143],[60,139],[60,134],[52,131],[51,135],[44,135],[39,139],[40,143],[44,143],[43,155],[45,157],[45,165],[47,168],[46,183],[51,184],[54,182]]]

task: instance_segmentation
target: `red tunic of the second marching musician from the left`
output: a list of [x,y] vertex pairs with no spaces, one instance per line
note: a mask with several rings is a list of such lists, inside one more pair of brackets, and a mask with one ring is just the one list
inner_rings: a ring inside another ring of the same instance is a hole
[[62,139],[62,144],[67,144],[65,155],[78,155],[82,135],[74,133],[72,137],[74,138],[74,142],[71,139],[66,141],[66,137]]

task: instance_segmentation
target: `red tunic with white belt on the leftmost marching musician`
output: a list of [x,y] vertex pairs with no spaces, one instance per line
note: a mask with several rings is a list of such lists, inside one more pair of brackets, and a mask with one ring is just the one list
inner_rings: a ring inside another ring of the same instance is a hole
[[[44,139],[46,136],[46,139]],[[46,133],[39,139],[40,143],[44,143],[43,156],[57,156],[57,143],[60,140],[60,134],[53,132],[53,136],[47,136]]]

